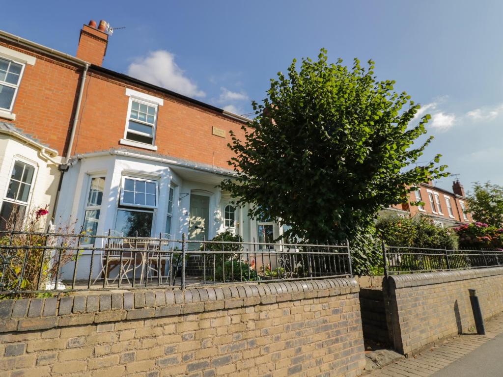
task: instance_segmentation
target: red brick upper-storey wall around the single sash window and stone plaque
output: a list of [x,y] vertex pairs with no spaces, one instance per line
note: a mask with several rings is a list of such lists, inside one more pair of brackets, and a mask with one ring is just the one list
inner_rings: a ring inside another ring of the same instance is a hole
[[[128,85],[125,81],[97,72],[88,76],[86,100],[83,101],[72,154],[124,147],[119,140],[124,138],[128,116],[127,87],[164,100],[164,105],[158,107],[155,136],[157,153],[229,167],[227,161],[233,156],[227,146],[230,142],[229,131],[233,130],[242,138],[242,122],[175,99],[166,93]],[[212,135],[212,127],[223,129],[226,137]]]

